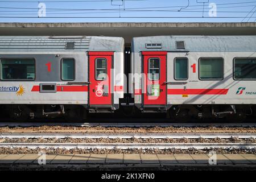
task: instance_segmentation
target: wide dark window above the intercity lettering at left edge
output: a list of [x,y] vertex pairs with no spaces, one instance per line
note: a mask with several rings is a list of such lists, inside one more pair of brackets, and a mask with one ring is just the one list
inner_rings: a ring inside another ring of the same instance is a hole
[[35,80],[35,59],[1,59],[1,80]]

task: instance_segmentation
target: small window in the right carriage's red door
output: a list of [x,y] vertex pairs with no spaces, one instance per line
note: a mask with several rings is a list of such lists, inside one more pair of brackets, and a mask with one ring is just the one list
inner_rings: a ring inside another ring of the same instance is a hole
[[150,58],[148,61],[148,79],[159,80],[160,60],[159,58]]

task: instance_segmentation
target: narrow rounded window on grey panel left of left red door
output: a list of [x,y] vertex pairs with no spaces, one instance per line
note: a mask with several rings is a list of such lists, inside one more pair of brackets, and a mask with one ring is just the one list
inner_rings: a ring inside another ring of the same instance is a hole
[[73,58],[61,60],[61,80],[75,80],[75,60]]

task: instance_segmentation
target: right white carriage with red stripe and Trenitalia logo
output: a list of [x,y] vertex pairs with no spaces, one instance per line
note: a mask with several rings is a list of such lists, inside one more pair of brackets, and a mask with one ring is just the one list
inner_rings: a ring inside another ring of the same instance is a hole
[[256,36],[133,38],[135,106],[185,119],[244,118],[256,104],[255,51]]

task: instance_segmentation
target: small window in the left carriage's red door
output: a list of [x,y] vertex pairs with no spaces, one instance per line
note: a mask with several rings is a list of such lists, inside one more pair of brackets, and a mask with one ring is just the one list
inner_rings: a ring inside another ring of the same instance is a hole
[[96,80],[106,80],[106,71],[107,71],[107,68],[106,68],[106,59],[105,58],[97,58],[96,61],[95,61],[95,79]]

